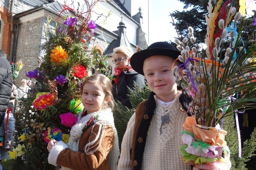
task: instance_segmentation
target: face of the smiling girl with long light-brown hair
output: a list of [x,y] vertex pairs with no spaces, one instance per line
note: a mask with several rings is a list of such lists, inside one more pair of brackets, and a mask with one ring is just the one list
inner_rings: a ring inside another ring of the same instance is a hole
[[87,110],[87,114],[102,110],[105,99],[105,94],[102,89],[96,84],[86,83],[83,87],[82,103]]

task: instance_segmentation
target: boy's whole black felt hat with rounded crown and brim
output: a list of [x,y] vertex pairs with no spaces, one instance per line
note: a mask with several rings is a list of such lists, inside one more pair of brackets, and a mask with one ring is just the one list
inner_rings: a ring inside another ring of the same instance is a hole
[[173,59],[177,59],[179,55],[181,55],[180,51],[177,51],[175,47],[166,42],[156,42],[151,44],[147,49],[141,50],[139,52],[134,53],[131,56],[130,64],[131,67],[138,73],[144,75],[143,73],[143,63],[144,60],[151,56],[169,56]]

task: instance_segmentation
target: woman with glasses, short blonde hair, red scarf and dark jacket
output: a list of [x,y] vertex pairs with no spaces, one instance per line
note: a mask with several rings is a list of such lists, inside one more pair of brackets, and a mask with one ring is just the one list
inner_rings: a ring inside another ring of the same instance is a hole
[[124,106],[132,108],[129,99],[129,89],[133,89],[135,83],[143,88],[145,85],[144,76],[134,71],[130,65],[132,52],[126,47],[121,46],[113,49],[112,62],[115,64],[115,73],[112,81],[112,93],[115,101],[121,102]]

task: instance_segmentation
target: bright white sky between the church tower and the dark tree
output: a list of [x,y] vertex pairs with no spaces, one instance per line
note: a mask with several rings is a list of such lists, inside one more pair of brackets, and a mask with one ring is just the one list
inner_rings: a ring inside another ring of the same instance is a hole
[[152,0],[152,17],[148,45],[158,41],[174,41],[177,37],[170,13],[183,11],[184,4],[178,0]]

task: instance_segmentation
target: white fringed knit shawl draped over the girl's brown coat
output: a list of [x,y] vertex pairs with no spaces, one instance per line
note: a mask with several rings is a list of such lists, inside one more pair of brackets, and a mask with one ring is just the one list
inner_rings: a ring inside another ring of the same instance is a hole
[[[91,117],[98,114],[99,115],[98,121],[96,121],[95,124],[99,125],[99,131],[96,135],[96,138],[91,140],[91,142],[87,143],[84,146],[84,152],[87,155],[89,155],[89,154],[92,154],[95,151],[97,151],[97,149],[99,147],[102,147],[101,142],[102,142],[103,134],[104,134],[104,131],[105,131],[105,126],[107,126],[107,125],[112,126],[113,131],[114,131],[114,143],[113,143],[113,147],[112,147],[112,149],[109,153],[109,164],[110,164],[110,169],[111,170],[116,170],[117,169],[118,156],[120,154],[120,151],[119,151],[117,131],[116,131],[116,128],[115,128],[115,125],[114,125],[114,118],[113,118],[113,113],[111,112],[111,109],[108,108],[108,109],[104,109],[104,110],[97,111],[97,112],[94,112],[94,113],[90,113],[90,114],[87,114],[86,116],[84,116],[83,118],[81,118],[82,114],[83,114],[83,111],[81,111],[79,113],[78,118],[77,118],[77,123],[74,126],[72,126],[72,128],[71,128],[70,138],[69,138],[69,141],[68,141],[69,149],[72,149],[75,152],[78,152],[79,142],[80,142],[81,136],[83,134],[83,131],[82,131],[83,128],[85,127],[85,125],[89,121],[89,119],[91,119]],[[91,126],[93,126],[93,128],[92,128],[90,137],[94,133],[93,129],[94,129],[95,124],[91,125]],[[102,134],[102,135],[100,136],[100,134]],[[90,139],[90,137],[89,137],[89,139]],[[98,139],[100,139],[100,140],[96,143],[96,141]],[[89,150],[97,144],[99,144],[98,147],[96,149],[94,149],[93,151],[89,152]],[[106,158],[106,155],[105,155],[104,152],[103,152],[103,154]],[[66,167],[61,167],[61,170],[70,170],[70,169],[66,168]]]

